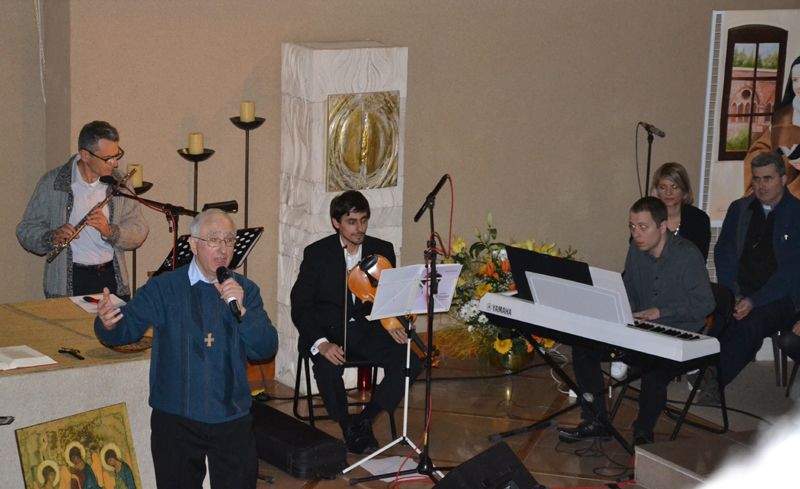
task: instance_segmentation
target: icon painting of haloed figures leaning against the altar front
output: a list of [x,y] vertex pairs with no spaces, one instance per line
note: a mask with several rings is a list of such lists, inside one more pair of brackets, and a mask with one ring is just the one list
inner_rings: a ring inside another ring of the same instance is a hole
[[16,430],[26,489],[142,487],[125,403]]

